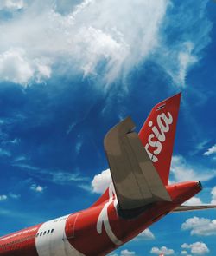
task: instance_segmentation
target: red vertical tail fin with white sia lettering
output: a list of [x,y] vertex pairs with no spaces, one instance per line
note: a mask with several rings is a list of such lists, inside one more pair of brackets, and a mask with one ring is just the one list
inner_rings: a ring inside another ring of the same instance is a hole
[[168,184],[180,99],[181,93],[158,103],[139,132],[139,138],[164,185]]

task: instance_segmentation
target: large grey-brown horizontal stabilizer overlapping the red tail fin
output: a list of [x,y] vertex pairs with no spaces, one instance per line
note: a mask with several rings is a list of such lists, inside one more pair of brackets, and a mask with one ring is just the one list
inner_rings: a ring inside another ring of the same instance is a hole
[[123,210],[171,201],[134,128],[128,117],[111,128],[104,140],[118,204]]

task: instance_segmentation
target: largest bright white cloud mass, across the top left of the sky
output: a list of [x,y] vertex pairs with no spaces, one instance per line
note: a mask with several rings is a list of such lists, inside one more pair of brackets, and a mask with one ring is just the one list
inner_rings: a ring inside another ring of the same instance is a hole
[[[9,46],[25,52],[25,58],[17,54],[10,57],[16,60],[12,68],[17,77],[13,79],[3,69],[4,79],[29,82],[35,71],[30,60],[46,57],[59,64],[64,59],[61,71],[76,69],[83,75],[97,75],[98,65],[102,64],[105,81],[112,82],[156,49],[168,0],[86,0],[65,16],[50,6],[54,6],[51,1],[33,1],[22,16],[0,26],[5,35],[0,43],[2,56],[7,55]],[[18,63],[24,65],[26,72]],[[38,70],[44,77],[50,77],[50,67]]]

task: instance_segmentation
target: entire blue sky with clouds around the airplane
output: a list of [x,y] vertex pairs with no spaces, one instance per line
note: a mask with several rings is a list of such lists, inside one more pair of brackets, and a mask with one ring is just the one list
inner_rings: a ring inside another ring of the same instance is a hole
[[[170,181],[216,203],[215,22],[210,0],[1,1],[0,234],[90,206],[107,130],[180,91]],[[113,255],[215,255],[214,218],[169,214]]]

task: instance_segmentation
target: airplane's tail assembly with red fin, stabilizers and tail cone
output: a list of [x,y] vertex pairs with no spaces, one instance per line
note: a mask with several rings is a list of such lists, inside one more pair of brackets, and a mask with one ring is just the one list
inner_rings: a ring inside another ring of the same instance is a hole
[[[179,204],[200,192],[200,181],[168,185],[180,99],[178,94],[158,103],[138,135],[130,117],[105,135],[105,153],[113,183],[92,207],[117,199],[118,214],[130,218],[154,203]],[[173,211],[215,207],[179,206]]]

